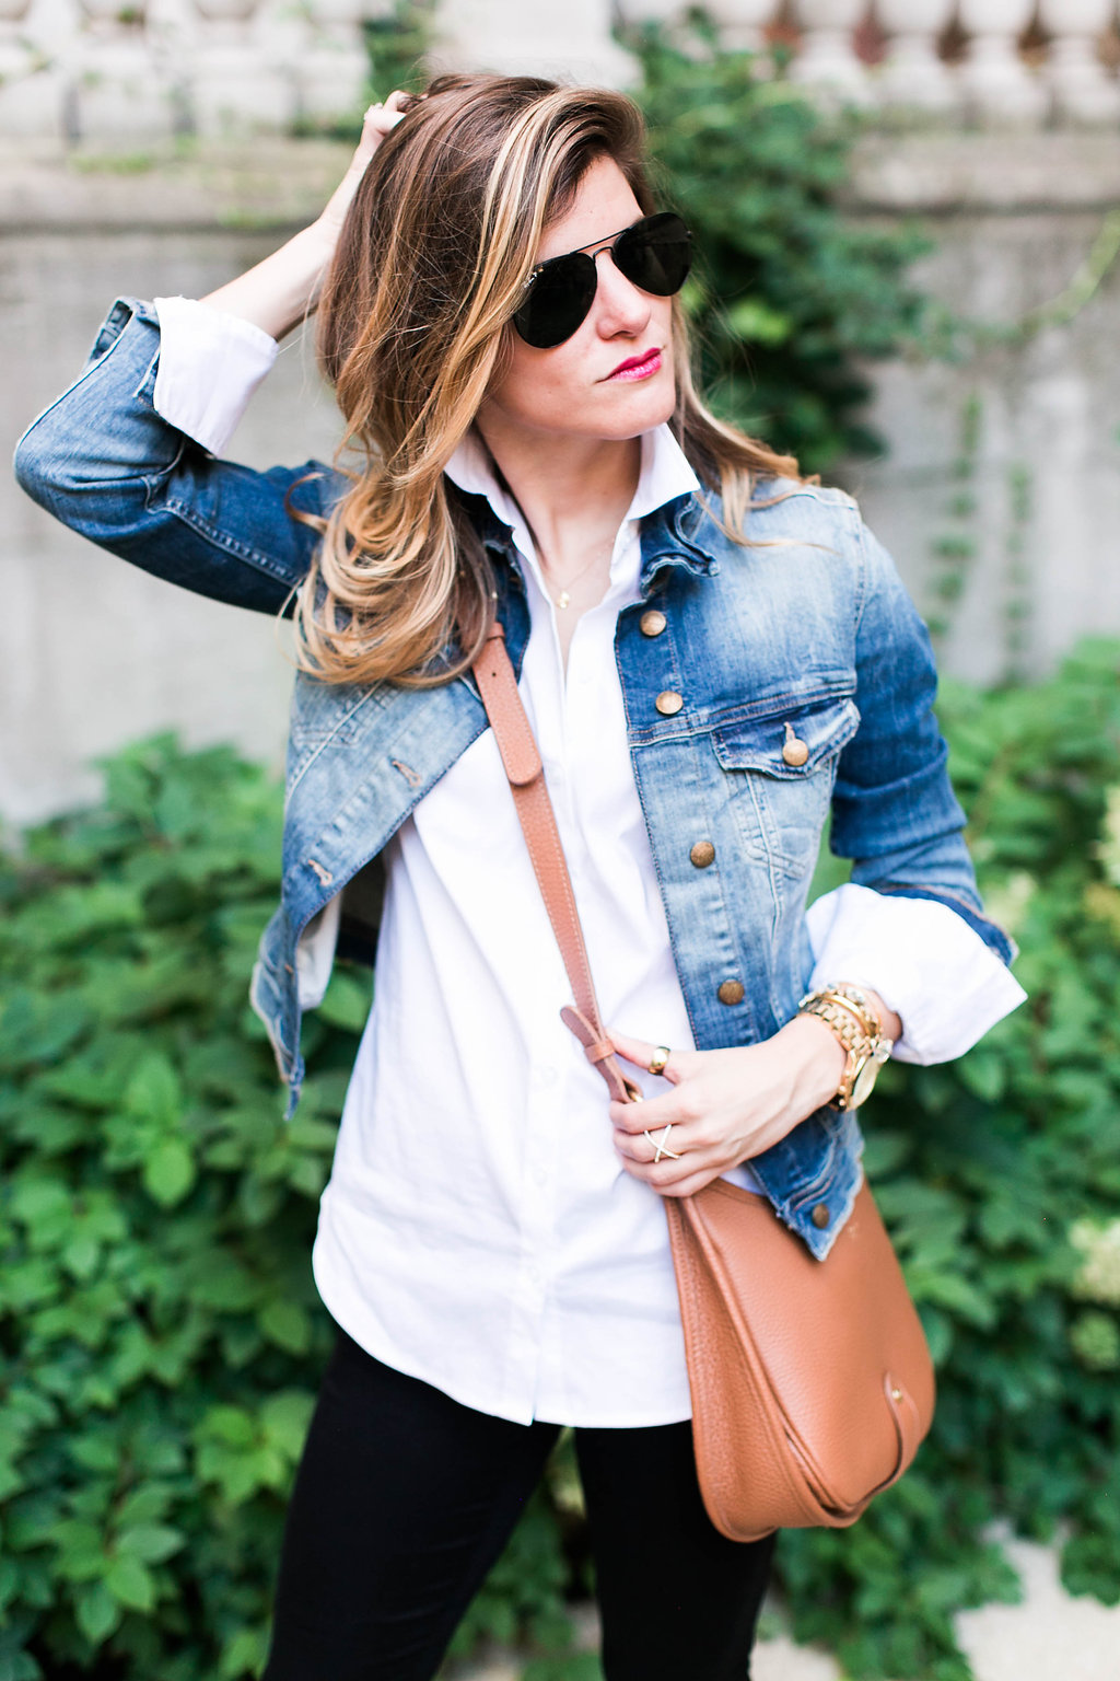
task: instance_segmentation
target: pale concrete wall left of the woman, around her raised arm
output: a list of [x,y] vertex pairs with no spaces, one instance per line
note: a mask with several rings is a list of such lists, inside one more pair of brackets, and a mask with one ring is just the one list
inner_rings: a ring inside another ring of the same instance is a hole
[[[304,220],[343,158],[309,145],[280,146],[275,156],[223,150],[185,170],[134,177],[27,156],[0,166],[5,459],[32,415],[76,377],[113,298],[210,291]],[[274,225],[240,227],[254,220]],[[334,440],[334,403],[311,346],[294,338],[257,392],[235,454],[272,466],[329,457]],[[8,820],[92,797],[91,760],[154,730],[175,728],[188,743],[232,740],[279,768],[292,676],[287,627],[104,555],[35,508],[8,472],[0,519],[0,812]]]

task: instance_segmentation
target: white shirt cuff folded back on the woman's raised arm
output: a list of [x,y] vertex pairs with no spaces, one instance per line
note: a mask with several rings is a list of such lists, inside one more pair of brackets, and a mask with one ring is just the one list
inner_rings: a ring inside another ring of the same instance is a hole
[[193,298],[156,298],[154,304],[156,414],[220,456],[280,346],[252,321]]

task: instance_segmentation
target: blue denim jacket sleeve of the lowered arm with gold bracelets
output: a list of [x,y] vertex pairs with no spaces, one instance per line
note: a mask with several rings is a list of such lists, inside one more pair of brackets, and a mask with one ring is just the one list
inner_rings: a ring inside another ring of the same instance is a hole
[[984,914],[964,844],[966,815],[934,716],[937,672],[929,632],[866,526],[860,543],[860,728],[836,772],[833,852],[853,859],[851,879],[860,886],[949,906],[1009,963],[1014,946]]

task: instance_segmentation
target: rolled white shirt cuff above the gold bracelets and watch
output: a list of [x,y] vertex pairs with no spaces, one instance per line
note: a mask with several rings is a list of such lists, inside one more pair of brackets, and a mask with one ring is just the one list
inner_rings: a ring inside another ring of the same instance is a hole
[[950,1062],[1026,992],[962,916],[934,899],[845,883],[806,913],[811,987],[851,982],[902,1020],[900,1062]]

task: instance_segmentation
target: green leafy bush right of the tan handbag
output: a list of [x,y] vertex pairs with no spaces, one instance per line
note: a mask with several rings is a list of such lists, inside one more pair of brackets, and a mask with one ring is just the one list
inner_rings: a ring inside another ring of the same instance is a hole
[[1016,1584],[992,1518],[1120,1599],[1120,649],[949,688],[942,723],[989,908],[1029,1002],[967,1057],[888,1064],[868,1168],[939,1365],[915,1469],[848,1533],[789,1533],[801,1639],[853,1676],[964,1681],[952,1614]]

